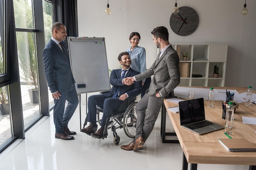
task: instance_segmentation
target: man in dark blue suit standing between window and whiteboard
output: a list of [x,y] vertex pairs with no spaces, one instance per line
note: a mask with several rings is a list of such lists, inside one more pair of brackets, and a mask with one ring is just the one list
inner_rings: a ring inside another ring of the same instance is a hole
[[[70,58],[65,43],[66,36],[65,25],[55,22],[52,26],[52,38],[43,51],[43,60],[45,76],[54,98],[55,138],[72,140],[74,137],[70,135],[75,135],[76,132],[70,131],[67,124],[73,116],[79,100],[70,68]],[[66,100],[68,103],[65,108]]]

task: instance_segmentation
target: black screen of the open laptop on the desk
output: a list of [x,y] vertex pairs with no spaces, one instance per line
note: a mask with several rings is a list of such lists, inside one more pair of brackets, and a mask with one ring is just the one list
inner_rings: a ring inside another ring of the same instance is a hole
[[204,98],[179,102],[180,125],[205,120]]

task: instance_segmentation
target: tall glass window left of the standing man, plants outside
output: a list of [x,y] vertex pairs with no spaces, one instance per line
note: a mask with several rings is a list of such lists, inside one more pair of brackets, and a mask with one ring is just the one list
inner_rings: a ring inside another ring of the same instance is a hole
[[13,0],[24,126],[41,113],[33,0]]

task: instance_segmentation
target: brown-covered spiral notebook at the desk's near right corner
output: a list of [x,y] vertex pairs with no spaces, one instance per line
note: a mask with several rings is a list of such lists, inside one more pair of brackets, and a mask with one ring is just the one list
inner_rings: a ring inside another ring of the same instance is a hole
[[256,151],[256,146],[247,139],[219,139],[219,142],[230,152]]

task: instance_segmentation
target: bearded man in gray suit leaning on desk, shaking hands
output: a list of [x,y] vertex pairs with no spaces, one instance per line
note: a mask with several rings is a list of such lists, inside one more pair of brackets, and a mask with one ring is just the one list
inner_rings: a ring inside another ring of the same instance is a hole
[[154,75],[148,92],[146,92],[136,105],[137,122],[135,139],[130,144],[121,146],[124,150],[136,151],[142,149],[144,142],[153,130],[164,98],[167,98],[171,92],[173,93],[173,89],[180,84],[180,60],[177,52],[168,41],[169,33],[167,28],[159,26],[151,34],[154,43],[157,48],[161,48],[161,51],[148,70],[130,77],[130,80],[134,82]]

